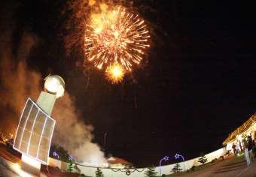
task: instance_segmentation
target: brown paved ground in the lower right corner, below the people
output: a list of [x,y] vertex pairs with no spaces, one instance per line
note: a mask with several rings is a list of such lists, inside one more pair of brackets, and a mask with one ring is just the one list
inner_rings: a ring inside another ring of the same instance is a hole
[[245,157],[230,157],[224,161],[209,164],[208,167],[200,169],[196,172],[186,172],[181,177],[255,177],[256,161],[246,166]]

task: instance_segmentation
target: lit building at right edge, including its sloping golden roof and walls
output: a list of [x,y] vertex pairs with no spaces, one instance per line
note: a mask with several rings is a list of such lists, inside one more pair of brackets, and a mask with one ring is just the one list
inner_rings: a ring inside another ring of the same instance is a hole
[[256,113],[251,115],[240,127],[237,127],[232,133],[227,136],[227,139],[222,142],[226,146],[227,151],[232,150],[233,142],[242,141],[247,135],[251,135],[254,139],[254,132],[256,131]]

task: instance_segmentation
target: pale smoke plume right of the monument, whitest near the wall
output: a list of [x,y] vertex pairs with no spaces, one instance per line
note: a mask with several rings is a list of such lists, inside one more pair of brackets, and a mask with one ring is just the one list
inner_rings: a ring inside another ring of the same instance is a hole
[[[78,119],[77,111],[69,93],[65,93],[56,102],[53,110],[53,118],[56,118],[56,130],[53,141],[56,145],[62,145],[68,149],[75,160],[93,165],[105,162],[105,157],[93,139],[93,126],[86,125]],[[65,142],[65,143],[63,143]]]

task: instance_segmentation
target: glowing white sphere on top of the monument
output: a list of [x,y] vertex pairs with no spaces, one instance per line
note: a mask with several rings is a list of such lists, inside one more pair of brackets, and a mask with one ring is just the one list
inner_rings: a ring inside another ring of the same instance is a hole
[[64,95],[65,82],[62,77],[59,77],[58,75],[50,75],[44,80],[44,89],[46,92],[56,95],[56,98]]

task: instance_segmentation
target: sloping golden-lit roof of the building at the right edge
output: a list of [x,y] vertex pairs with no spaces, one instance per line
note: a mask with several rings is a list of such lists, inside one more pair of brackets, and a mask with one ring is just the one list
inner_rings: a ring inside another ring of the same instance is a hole
[[251,117],[247,121],[245,121],[245,123],[243,123],[240,127],[236,128],[236,130],[234,130],[232,133],[230,133],[227,136],[227,139],[225,139],[224,142],[222,142],[222,144],[227,145],[227,143],[235,139],[237,135],[245,132],[245,130],[248,130],[248,128],[251,127],[251,124],[253,124],[255,121],[256,113],[251,115]]

